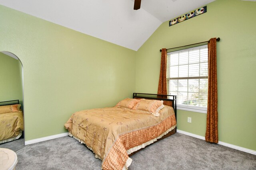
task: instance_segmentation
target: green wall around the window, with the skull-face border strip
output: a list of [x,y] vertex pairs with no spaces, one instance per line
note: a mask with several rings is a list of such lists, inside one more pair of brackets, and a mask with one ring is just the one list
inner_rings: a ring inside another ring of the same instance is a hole
[[[256,2],[216,0],[207,5],[205,14],[171,27],[168,21],[162,23],[136,53],[136,92],[157,92],[159,49],[220,37],[217,43],[219,141],[256,150],[255,9]],[[206,114],[183,110],[177,113],[177,129],[205,136]],[[187,117],[192,117],[192,123],[187,123]]]

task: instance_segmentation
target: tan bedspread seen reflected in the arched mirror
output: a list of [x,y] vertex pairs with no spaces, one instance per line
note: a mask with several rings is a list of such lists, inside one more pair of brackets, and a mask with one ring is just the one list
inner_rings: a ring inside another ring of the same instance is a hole
[[0,141],[16,137],[23,130],[22,112],[0,114]]

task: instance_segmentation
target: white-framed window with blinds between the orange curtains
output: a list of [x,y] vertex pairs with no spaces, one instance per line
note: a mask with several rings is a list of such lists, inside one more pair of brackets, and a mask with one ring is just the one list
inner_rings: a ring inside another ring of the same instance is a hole
[[168,94],[177,96],[177,108],[207,112],[208,46],[167,53]]

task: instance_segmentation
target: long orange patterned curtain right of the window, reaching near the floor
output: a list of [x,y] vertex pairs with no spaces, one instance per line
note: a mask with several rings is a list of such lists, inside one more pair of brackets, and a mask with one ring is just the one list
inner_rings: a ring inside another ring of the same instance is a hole
[[208,43],[208,106],[205,140],[218,143],[218,94],[217,94],[217,63],[216,38]]

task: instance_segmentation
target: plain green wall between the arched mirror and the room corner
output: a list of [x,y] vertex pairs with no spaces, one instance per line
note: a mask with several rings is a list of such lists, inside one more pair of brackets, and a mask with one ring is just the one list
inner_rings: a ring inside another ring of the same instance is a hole
[[25,141],[67,132],[75,111],[132,97],[136,51],[4,6],[0,21],[0,51],[24,68]]

